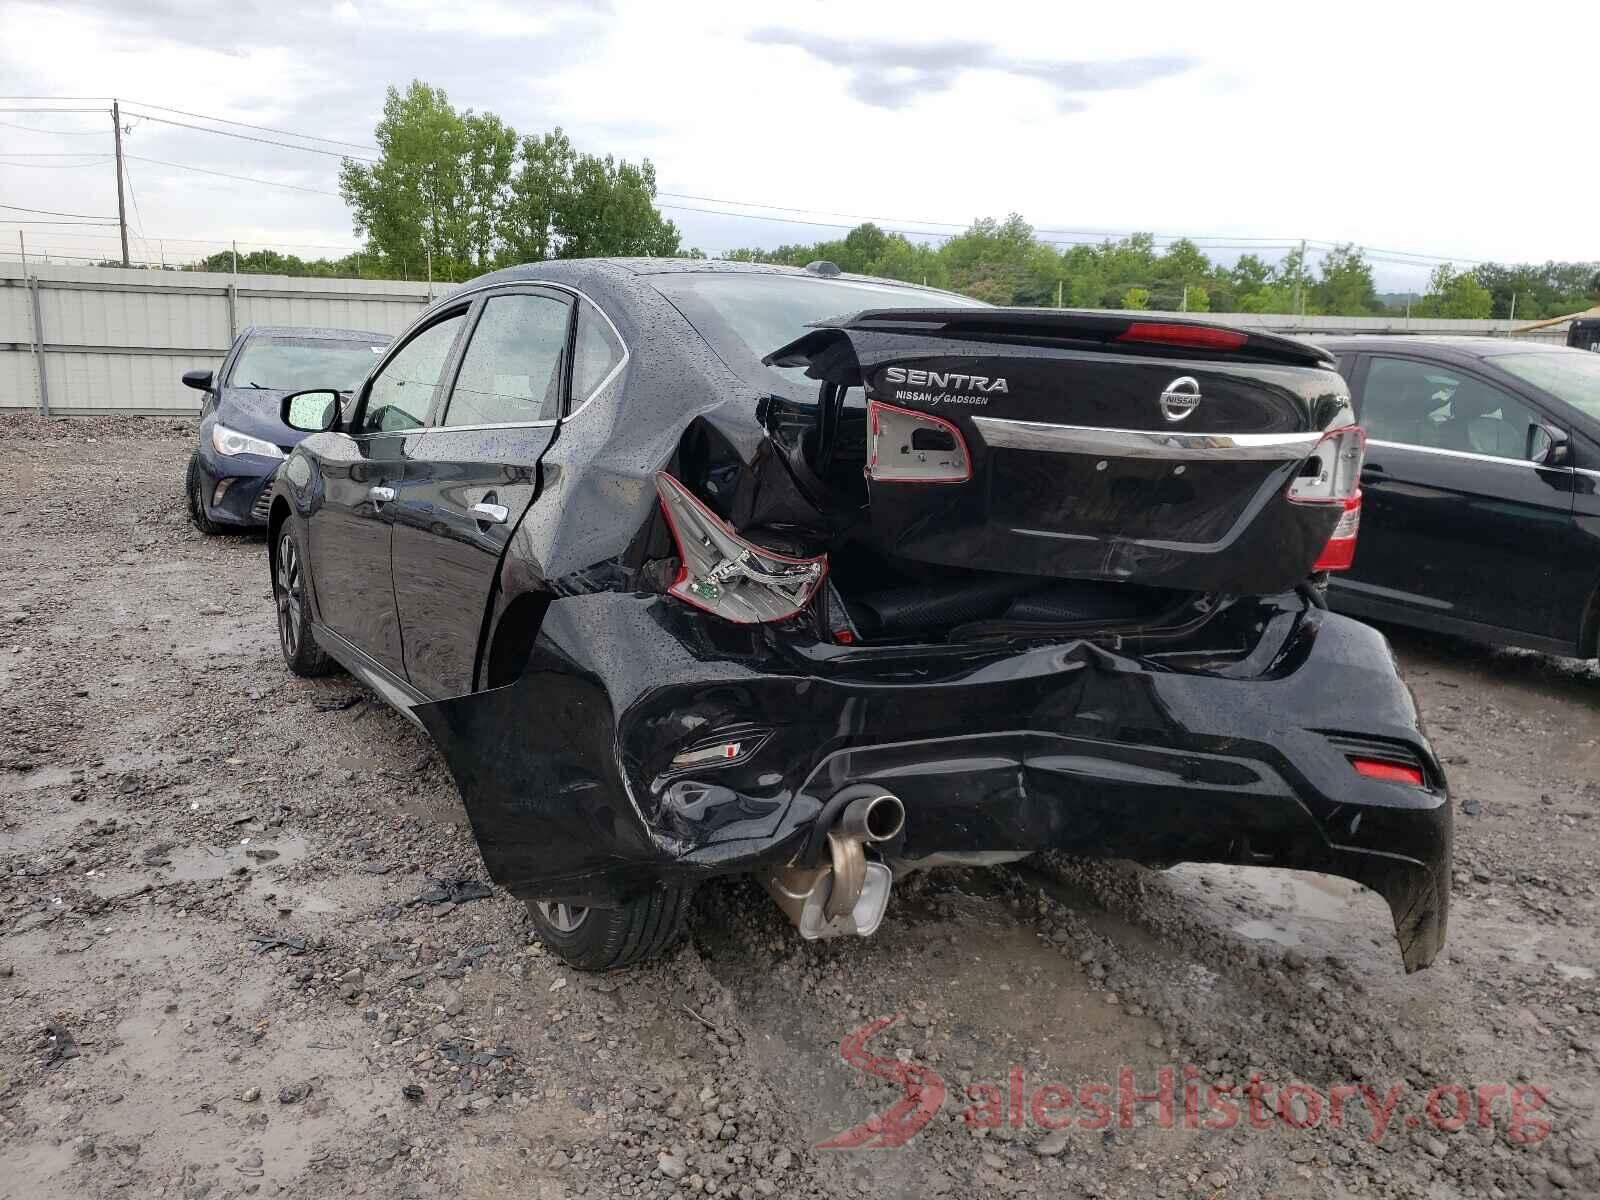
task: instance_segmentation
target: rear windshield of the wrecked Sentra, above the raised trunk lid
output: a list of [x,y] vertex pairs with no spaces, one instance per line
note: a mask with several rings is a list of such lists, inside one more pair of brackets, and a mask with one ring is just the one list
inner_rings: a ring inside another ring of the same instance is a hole
[[862,309],[982,309],[981,301],[947,291],[813,278],[810,275],[762,275],[734,272],[686,272],[651,280],[723,362],[747,379],[778,379],[814,392],[803,366],[765,366],[762,358],[787,346],[813,322],[843,317]]

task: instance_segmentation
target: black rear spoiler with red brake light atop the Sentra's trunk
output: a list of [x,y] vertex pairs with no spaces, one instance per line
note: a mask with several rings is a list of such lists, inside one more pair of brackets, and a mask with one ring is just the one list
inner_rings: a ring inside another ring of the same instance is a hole
[[1216,322],[1168,317],[1134,318],[1080,309],[866,309],[814,322],[813,333],[773,350],[768,366],[813,366],[840,333],[907,334],[990,346],[1053,346],[1122,350],[1173,358],[1280,363],[1333,370],[1334,357],[1310,342]]

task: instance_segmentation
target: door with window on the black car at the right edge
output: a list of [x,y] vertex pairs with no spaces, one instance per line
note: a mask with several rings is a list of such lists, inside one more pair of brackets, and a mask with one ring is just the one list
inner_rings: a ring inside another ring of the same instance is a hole
[[1549,637],[1576,568],[1573,472],[1525,458],[1541,413],[1469,366],[1403,352],[1363,355],[1354,390],[1362,533],[1354,568],[1331,581],[1334,603]]

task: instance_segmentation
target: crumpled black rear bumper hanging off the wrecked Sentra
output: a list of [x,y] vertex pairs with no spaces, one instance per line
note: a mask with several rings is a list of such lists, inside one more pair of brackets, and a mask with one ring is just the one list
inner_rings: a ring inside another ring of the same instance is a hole
[[[808,864],[832,798],[874,782],[906,806],[896,859],[1064,850],[1325,870],[1382,894],[1418,970],[1448,914],[1443,773],[1379,634],[1317,611],[1285,622],[1270,662],[1230,677],[1086,642],[795,645],[597,594],[550,605],[517,682],[416,715],[490,874],[525,898],[605,904],[669,877]],[[1416,763],[1427,786],[1358,776],[1352,747]]]

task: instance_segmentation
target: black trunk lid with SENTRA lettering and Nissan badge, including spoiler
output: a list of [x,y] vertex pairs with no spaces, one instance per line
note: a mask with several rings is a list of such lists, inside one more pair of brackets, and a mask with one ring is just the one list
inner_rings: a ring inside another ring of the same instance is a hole
[[821,381],[810,466],[846,504],[866,478],[862,536],[886,554],[1269,594],[1310,573],[1339,520],[1339,504],[1285,494],[1333,466],[1323,435],[1354,424],[1331,355],[1306,342],[1168,318],[893,309],[821,323],[766,362]]

